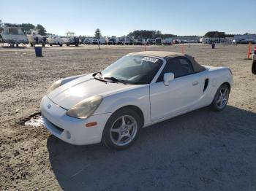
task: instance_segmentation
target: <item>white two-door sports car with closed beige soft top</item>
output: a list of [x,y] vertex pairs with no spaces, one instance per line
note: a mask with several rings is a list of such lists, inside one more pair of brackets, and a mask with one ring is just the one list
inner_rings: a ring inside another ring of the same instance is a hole
[[43,123],[70,144],[134,143],[140,129],[200,107],[221,111],[233,76],[177,52],[135,52],[105,70],[54,82],[42,98]]

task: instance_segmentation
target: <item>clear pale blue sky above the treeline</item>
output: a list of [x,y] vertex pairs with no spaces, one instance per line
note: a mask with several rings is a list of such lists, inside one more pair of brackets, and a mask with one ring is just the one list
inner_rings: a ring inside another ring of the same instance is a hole
[[131,31],[204,35],[256,33],[256,0],[1,0],[3,23],[42,24],[49,33],[122,36]]

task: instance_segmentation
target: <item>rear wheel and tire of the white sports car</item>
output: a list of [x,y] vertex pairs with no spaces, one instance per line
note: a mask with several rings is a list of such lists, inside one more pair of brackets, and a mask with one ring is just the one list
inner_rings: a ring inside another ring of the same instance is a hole
[[230,87],[227,84],[222,84],[214,95],[214,101],[211,103],[211,109],[214,112],[220,112],[225,109],[229,94]]

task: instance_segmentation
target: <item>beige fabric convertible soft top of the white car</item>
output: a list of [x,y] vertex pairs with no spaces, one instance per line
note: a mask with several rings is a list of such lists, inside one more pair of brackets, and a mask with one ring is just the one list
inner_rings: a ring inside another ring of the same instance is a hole
[[146,56],[155,56],[159,58],[164,58],[166,61],[168,61],[170,58],[175,57],[186,57],[189,59],[189,61],[192,63],[194,71],[200,72],[206,70],[205,67],[201,66],[195,59],[186,54],[181,54],[178,52],[168,52],[168,51],[144,51],[144,52],[132,52],[129,55],[146,55]]

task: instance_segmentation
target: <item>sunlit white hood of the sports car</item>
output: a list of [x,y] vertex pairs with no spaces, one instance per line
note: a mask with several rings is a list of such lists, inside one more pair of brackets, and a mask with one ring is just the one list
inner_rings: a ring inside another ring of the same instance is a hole
[[139,86],[140,85],[124,85],[122,83],[102,82],[94,79],[92,74],[88,74],[61,85],[48,93],[48,98],[62,108],[70,109],[72,106],[75,106],[75,104],[83,101],[83,99],[89,98],[93,95],[102,95],[105,97],[113,93],[138,88]]

